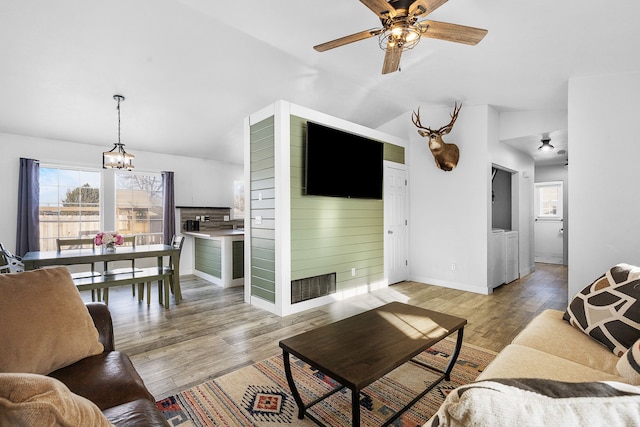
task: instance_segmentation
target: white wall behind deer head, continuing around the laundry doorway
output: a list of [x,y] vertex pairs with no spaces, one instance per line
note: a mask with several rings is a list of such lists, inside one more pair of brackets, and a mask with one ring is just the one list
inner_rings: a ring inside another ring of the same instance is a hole
[[[440,126],[449,109],[423,110],[423,123]],[[566,119],[566,113],[560,114]],[[533,251],[533,159],[499,142],[501,135],[523,136],[531,126],[556,126],[538,113],[498,113],[489,106],[464,106],[445,141],[460,148],[451,172],[439,170],[407,112],[379,130],[407,138],[410,188],[409,269],[412,280],[488,293],[488,234],[491,230],[492,164],[514,172],[512,227],[519,232],[520,274],[535,270]],[[531,122],[529,121],[531,120]],[[561,119],[564,120],[564,119]],[[512,123],[515,122],[515,123]],[[524,125],[521,125],[523,124]],[[566,127],[566,120],[565,120]],[[554,127],[552,127],[554,128]],[[456,270],[451,270],[451,264]]]

